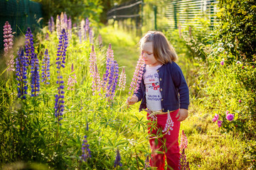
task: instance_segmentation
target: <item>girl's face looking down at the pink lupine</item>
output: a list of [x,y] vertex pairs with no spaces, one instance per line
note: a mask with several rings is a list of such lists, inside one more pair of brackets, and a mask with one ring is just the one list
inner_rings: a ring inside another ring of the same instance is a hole
[[145,64],[149,64],[151,67],[156,67],[160,64],[153,54],[153,42],[145,42],[142,47],[142,57],[145,61]]

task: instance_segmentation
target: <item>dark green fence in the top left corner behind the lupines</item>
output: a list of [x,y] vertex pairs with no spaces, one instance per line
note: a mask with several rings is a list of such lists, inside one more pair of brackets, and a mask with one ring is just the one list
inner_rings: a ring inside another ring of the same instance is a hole
[[3,27],[9,21],[14,36],[26,32],[28,27],[41,27],[43,12],[41,4],[29,0],[0,0],[0,50],[4,48]]

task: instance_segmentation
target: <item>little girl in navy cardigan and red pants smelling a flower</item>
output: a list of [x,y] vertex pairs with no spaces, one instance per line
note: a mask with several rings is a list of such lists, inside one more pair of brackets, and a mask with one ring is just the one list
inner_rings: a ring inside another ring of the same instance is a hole
[[[132,105],[142,101],[139,111],[146,111],[147,119],[151,120],[150,165],[162,170],[166,157],[168,169],[176,170],[180,159],[180,122],[188,117],[188,85],[175,62],[176,52],[163,33],[149,31],[139,44],[146,67],[139,89],[127,103]],[[157,154],[156,150],[164,154]]]

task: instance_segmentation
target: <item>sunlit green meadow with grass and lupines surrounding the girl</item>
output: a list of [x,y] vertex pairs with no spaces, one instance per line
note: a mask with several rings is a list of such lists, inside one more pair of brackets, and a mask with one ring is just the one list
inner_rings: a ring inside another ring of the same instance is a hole
[[[146,113],[139,112],[139,103],[126,103],[139,59],[139,38],[112,26],[88,26],[93,36],[79,28],[61,33],[45,27],[36,35],[26,30],[12,47],[14,70],[6,69],[10,55],[4,55],[2,169],[145,168],[151,154]],[[166,35],[190,89],[189,116],[181,123],[190,169],[253,169],[255,142],[249,131],[254,124],[243,123],[240,111],[250,110],[247,101],[255,92],[235,79],[242,64],[228,65],[229,59],[210,55],[207,61],[201,55],[193,57],[186,47],[189,40],[178,38],[178,31]],[[255,61],[244,63],[243,72],[251,72],[247,79],[253,82]],[[236,87],[235,93],[230,86]],[[226,111],[235,115],[234,121],[225,118]],[[220,127],[213,121],[215,114],[222,118]]]

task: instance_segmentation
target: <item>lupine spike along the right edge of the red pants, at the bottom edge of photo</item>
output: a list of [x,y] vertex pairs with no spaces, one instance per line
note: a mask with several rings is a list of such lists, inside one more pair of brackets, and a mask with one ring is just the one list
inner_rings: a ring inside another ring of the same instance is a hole
[[184,133],[184,130],[182,130],[181,145],[179,147],[180,147],[180,151],[181,151],[181,157],[178,162],[179,169],[180,170],[189,170],[190,168],[189,168],[189,164],[186,160],[186,154],[185,154],[185,149],[186,149],[186,147],[188,147],[188,139]]

